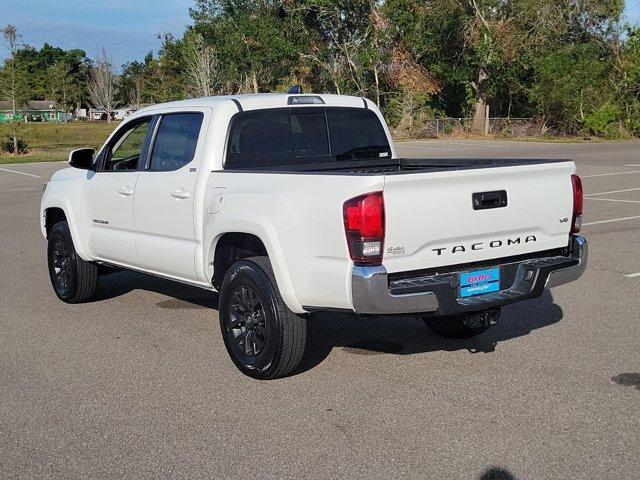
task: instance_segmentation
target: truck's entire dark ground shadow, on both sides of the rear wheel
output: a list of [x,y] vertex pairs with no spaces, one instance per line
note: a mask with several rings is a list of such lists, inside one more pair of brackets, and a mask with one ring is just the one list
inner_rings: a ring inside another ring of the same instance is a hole
[[[130,271],[101,277],[96,301],[116,298],[134,290],[146,290],[171,297],[157,303],[161,308],[218,308],[216,293]],[[533,330],[559,322],[562,317],[562,309],[553,302],[548,290],[538,299],[503,308],[498,325],[482,335],[461,340],[440,337],[415,317],[359,317],[346,313],[318,313],[311,316],[305,356],[294,375],[322,363],[334,348],[342,348],[354,355],[413,355],[441,350],[491,353],[500,342],[528,335]]]

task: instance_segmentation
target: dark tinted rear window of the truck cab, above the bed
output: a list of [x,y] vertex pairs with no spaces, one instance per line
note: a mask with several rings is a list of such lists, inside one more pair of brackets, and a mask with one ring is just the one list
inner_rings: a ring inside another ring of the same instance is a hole
[[380,120],[364,108],[279,108],[238,113],[227,168],[390,158]]

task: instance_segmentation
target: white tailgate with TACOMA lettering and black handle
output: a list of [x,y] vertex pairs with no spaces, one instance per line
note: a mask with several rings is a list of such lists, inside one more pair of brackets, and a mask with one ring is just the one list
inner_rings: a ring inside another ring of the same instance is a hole
[[[566,247],[574,172],[573,162],[558,162],[386,175],[383,263],[387,271]],[[496,193],[502,191],[506,196]],[[474,194],[479,194],[475,208]]]

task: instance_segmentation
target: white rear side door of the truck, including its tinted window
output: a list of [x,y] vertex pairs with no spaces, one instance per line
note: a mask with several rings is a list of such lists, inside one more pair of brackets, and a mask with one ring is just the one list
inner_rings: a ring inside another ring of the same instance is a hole
[[195,201],[210,109],[160,114],[134,199],[136,250],[146,270],[197,281]]

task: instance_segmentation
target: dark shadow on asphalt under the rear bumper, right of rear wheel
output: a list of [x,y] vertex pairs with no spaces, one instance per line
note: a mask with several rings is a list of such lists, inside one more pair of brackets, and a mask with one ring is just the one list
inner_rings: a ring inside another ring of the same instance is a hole
[[414,317],[316,314],[309,325],[305,358],[296,373],[319,365],[334,348],[355,355],[413,355],[441,350],[491,353],[498,343],[528,335],[562,317],[562,309],[548,290],[538,299],[504,307],[498,325],[477,337],[460,340],[440,337]]

